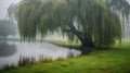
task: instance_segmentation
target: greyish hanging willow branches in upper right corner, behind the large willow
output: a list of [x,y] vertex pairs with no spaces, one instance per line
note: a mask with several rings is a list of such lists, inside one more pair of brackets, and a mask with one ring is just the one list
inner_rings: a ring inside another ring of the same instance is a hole
[[105,0],[110,10],[116,13],[121,23],[122,36],[127,35],[126,29],[130,23],[130,4],[128,0]]

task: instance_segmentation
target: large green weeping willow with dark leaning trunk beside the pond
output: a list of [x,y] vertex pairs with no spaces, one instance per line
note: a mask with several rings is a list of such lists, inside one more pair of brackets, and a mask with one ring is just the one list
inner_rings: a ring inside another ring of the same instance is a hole
[[[114,1],[114,0],[112,0]],[[110,2],[110,1],[109,1]],[[104,0],[22,0],[9,9],[22,39],[34,40],[54,32],[84,47],[109,47],[121,39],[119,16]]]

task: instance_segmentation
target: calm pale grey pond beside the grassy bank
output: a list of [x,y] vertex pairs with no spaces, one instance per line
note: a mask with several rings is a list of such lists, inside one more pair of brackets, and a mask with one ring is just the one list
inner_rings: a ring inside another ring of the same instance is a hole
[[0,69],[8,64],[17,64],[21,57],[41,57],[52,60],[78,57],[81,51],[55,46],[49,42],[0,41]]

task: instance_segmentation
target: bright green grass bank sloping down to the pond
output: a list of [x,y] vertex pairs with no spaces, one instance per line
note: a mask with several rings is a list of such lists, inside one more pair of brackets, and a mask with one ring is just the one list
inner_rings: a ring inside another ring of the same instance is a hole
[[87,56],[1,70],[0,73],[130,73],[130,42]]

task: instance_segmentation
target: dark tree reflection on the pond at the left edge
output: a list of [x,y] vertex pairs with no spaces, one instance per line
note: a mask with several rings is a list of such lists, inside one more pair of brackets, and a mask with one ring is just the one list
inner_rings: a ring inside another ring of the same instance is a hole
[[0,57],[9,57],[16,52],[15,45],[9,45],[5,41],[0,41]]

